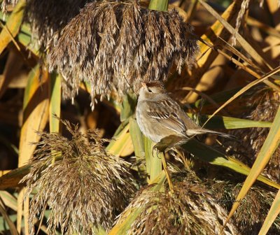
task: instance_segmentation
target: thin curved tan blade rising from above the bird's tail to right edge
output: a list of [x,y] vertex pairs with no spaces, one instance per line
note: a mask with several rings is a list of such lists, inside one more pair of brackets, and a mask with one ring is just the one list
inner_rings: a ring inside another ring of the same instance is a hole
[[[233,100],[237,99],[237,97],[239,97],[241,94],[244,94],[244,92],[246,92],[247,90],[249,90],[251,87],[253,87],[254,85],[257,85],[258,83],[262,83],[262,81],[266,80],[267,78],[269,78],[270,76],[272,76],[275,73],[278,73],[280,71],[280,66],[278,66],[277,68],[273,69],[272,71],[270,71],[269,73],[265,74],[265,76],[262,76],[262,78],[260,78],[259,80],[254,80],[252,83],[249,83],[248,85],[246,85],[246,87],[243,87],[239,92],[237,92],[233,97],[231,97],[228,101],[226,101],[220,108],[218,108],[209,118],[208,120],[204,123],[207,124],[207,122],[214,117],[214,115],[216,115],[219,111],[221,111],[223,108],[225,108],[225,106],[227,106],[228,104],[230,104],[230,102],[232,102]],[[204,127],[203,125],[203,127]]]

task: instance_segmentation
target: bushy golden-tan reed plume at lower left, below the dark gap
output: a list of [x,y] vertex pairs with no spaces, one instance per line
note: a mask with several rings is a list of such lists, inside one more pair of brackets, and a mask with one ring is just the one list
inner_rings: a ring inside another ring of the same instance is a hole
[[[62,234],[94,234],[92,229],[98,225],[109,229],[134,192],[128,165],[106,152],[106,140],[97,131],[87,131],[85,136],[78,132],[78,126],[62,122],[72,139],[41,133],[31,171],[22,180],[27,194],[38,190],[29,208],[31,234],[34,218],[42,217],[46,208],[51,210],[50,234],[58,227]],[[52,163],[55,155],[57,161]]]

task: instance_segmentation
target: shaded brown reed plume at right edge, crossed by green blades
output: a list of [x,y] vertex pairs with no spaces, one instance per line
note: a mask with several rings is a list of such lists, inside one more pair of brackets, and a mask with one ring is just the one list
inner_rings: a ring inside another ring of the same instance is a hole
[[[280,105],[280,96],[278,92],[269,90],[264,86],[258,86],[252,91],[253,94],[246,94],[247,98],[246,105],[248,112],[242,113],[241,118],[247,118],[250,120],[258,120],[265,122],[273,122],[276,112]],[[260,149],[262,148],[269,128],[250,128],[250,129],[238,129],[231,131],[231,134],[239,136],[242,140],[242,145],[236,145],[232,143],[233,150],[241,152],[241,155],[235,154],[235,157],[241,159],[242,162],[253,165],[255,158],[258,156]],[[269,177],[280,182],[280,147],[276,148],[272,158],[269,160],[265,173]]]

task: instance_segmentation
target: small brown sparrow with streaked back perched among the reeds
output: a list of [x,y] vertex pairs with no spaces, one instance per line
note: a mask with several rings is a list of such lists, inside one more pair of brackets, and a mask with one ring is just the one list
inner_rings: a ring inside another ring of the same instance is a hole
[[162,83],[141,83],[136,117],[142,133],[159,143],[167,136],[190,138],[197,134],[216,134],[232,138],[230,134],[203,129],[183,111],[183,109],[167,94]]

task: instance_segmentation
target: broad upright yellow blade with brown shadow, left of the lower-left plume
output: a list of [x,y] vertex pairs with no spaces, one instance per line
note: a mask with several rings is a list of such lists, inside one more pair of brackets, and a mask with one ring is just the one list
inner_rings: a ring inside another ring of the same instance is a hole
[[[25,88],[24,100],[24,120],[20,131],[20,154],[18,158],[18,166],[27,164],[36,148],[31,143],[36,143],[40,137],[35,131],[42,131],[48,120],[48,73],[43,71],[42,84],[39,80],[40,67],[37,65],[34,71],[29,73],[27,87]],[[18,232],[21,229],[22,219],[22,203],[24,190],[20,191],[18,196]],[[27,205],[25,205],[26,207]],[[26,210],[26,208],[25,208]],[[25,224],[27,217],[25,217]],[[28,230],[27,230],[28,231]]]

